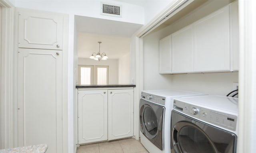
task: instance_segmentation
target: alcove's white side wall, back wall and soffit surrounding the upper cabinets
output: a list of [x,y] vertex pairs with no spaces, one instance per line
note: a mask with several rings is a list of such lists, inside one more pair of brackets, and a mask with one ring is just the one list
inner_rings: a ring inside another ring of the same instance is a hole
[[210,8],[211,6],[207,4],[174,24],[143,38],[144,90],[180,89],[219,95],[226,95],[232,90],[232,83],[238,82],[238,72],[175,75],[160,75],[158,73],[159,40],[209,14],[213,11]]

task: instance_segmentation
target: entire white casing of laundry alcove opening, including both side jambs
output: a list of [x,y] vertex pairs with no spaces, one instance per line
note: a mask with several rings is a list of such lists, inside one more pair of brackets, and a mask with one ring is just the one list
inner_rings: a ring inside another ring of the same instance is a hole
[[[136,90],[134,90],[134,115],[138,116],[140,94],[143,90],[143,37],[165,20],[171,17],[171,11],[175,10],[176,4],[183,4],[186,0],[176,0],[176,3],[166,7],[152,22],[142,27],[135,35],[136,55]],[[194,0],[188,0],[192,2]],[[185,5],[184,5],[185,6]],[[237,152],[252,152],[254,150],[253,140],[256,137],[256,2],[255,0],[238,0],[239,7],[239,137]],[[170,16],[169,16],[170,15]],[[135,138],[139,139],[139,118],[134,120]]]

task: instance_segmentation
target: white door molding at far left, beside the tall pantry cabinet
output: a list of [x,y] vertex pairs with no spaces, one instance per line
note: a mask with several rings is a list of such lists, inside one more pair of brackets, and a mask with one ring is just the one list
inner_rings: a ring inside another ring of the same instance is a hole
[[14,142],[14,7],[8,0],[0,0],[0,6],[2,6],[0,148],[5,149],[16,146]]

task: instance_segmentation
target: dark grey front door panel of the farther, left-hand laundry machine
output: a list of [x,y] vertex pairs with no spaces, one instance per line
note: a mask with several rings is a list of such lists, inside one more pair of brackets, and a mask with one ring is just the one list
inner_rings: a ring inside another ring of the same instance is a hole
[[161,150],[163,149],[163,118],[163,106],[140,100],[140,131]]

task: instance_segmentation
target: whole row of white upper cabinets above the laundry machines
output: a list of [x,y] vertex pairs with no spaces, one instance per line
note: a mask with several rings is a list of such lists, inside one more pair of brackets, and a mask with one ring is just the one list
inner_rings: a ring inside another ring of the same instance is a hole
[[238,71],[238,2],[159,41],[159,73]]

